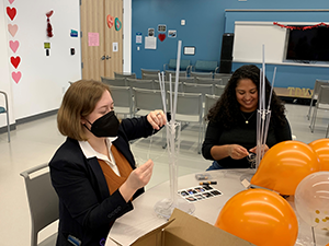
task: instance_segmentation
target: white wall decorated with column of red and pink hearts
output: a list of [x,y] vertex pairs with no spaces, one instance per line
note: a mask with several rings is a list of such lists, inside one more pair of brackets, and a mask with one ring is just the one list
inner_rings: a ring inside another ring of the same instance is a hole
[[[124,0],[124,66],[123,71],[132,70],[132,0]],[[11,21],[5,8],[15,8],[16,16]],[[54,37],[46,36],[46,13],[53,10],[50,24]],[[19,31],[14,37],[9,34],[8,24],[16,24]],[[78,37],[70,37],[76,30]],[[14,54],[10,40],[19,40],[20,47]],[[50,56],[46,57],[44,43],[50,43]],[[68,81],[81,79],[80,48],[80,5],[79,0],[0,0],[0,91],[5,91],[10,98],[11,124],[57,109]],[[70,55],[70,48],[76,55]],[[10,57],[21,57],[15,69]],[[20,71],[22,78],[15,83],[11,73]],[[0,104],[1,104],[0,96]],[[5,117],[0,116],[0,127],[5,126]]]

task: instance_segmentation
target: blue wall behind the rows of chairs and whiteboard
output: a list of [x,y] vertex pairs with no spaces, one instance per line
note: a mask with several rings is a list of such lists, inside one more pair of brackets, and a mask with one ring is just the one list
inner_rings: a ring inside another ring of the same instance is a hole
[[[132,1],[132,71],[140,78],[140,68],[163,69],[163,63],[177,57],[178,40],[183,46],[195,46],[195,56],[184,56],[192,65],[196,60],[216,60],[219,63],[222,36],[234,31],[235,21],[277,22],[329,22],[329,12],[226,12],[226,9],[327,9],[328,0],[133,0]],[[181,20],[186,25],[181,26]],[[144,37],[148,28],[166,24],[168,30],[177,30],[177,38],[157,42],[156,50],[144,48]],[[136,44],[136,33],[143,34],[143,44]],[[140,50],[137,50],[139,46]],[[234,63],[236,70],[242,63]],[[260,65],[258,65],[260,66]],[[272,78],[274,65],[268,65],[268,77]],[[276,66],[276,86],[313,87],[315,79],[329,79],[329,68]]]

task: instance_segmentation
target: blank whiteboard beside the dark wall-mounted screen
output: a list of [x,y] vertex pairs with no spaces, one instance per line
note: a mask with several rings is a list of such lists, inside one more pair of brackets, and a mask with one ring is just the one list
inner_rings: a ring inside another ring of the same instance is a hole
[[262,62],[262,45],[266,63],[283,62],[286,28],[273,22],[235,22],[234,61]]

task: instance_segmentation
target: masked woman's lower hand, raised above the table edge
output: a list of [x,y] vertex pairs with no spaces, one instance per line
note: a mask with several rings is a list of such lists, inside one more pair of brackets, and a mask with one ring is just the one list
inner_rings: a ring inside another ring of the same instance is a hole
[[134,194],[146,186],[152,175],[154,162],[148,160],[143,165],[134,169],[128,176],[127,180],[118,188],[121,195],[127,202],[134,196]]

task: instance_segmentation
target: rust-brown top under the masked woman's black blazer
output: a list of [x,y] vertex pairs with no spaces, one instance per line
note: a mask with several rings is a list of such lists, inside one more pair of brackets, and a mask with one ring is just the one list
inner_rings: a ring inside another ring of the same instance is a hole
[[114,191],[117,190],[122,186],[122,184],[125,183],[129,174],[133,172],[133,168],[128,161],[113,144],[111,147],[111,151],[121,176],[117,176],[106,162],[100,159],[98,160],[105,176],[110,195],[114,194]]

